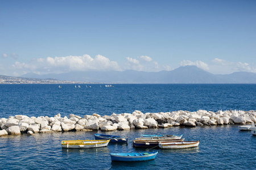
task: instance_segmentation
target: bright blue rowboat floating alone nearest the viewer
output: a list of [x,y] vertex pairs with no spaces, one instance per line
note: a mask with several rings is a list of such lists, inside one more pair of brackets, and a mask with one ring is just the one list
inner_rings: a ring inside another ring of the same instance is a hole
[[137,162],[155,159],[158,152],[133,152],[133,153],[115,153],[110,154],[112,161]]

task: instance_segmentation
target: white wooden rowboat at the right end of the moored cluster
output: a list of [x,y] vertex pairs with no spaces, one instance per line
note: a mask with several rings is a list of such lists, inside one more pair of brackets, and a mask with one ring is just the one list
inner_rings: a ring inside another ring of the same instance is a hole
[[200,141],[183,141],[183,142],[159,142],[159,148],[163,149],[179,149],[199,146]]

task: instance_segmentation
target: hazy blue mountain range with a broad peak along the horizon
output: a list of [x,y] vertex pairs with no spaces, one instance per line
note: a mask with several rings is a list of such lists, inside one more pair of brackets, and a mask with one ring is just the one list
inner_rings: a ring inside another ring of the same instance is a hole
[[236,72],[216,75],[199,69],[196,66],[179,67],[172,71],[72,71],[61,74],[39,75],[28,73],[24,78],[69,80],[94,83],[256,83],[256,74]]

